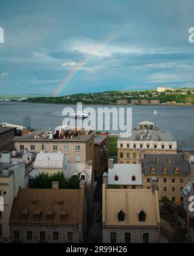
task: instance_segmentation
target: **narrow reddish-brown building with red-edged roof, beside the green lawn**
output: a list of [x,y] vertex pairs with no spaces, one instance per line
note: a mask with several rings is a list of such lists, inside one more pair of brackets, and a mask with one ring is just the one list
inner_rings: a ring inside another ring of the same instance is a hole
[[94,176],[102,176],[108,169],[109,135],[94,135]]

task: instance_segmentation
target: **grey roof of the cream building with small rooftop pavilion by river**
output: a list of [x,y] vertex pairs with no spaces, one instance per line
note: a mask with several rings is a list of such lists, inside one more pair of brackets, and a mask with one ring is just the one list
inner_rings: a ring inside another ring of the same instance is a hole
[[[150,134],[149,138],[147,134]],[[141,138],[141,135],[143,137]],[[171,132],[167,130],[133,130],[130,137],[120,137],[121,141],[176,141]]]

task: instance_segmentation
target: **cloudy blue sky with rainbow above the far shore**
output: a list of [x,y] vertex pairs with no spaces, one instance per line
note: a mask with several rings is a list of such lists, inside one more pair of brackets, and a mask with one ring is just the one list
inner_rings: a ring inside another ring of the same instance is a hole
[[194,87],[193,0],[1,0],[0,95]]

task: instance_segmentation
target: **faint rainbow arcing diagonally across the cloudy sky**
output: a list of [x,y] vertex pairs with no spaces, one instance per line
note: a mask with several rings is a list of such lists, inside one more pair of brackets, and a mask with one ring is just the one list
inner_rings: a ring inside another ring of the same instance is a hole
[[105,45],[107,45],[108,43],[110,43],[114,38],[116,38],[116,35],[118,33],[113,33],[110,34],[109,36],[107,36],[107,38],[105,38],[105,40],[103,40],[102,43],[100,43],[92,52],[91,54],[87,55],[87,57],[85,58],[85,60],[83,62],[81,62],[80,65],[74,67],[72,69],[72,71],[65,76],[65,78],[63,79],[63,81],[61,82],[61,84],[59,84],[58,87],[56,87],[54,89],[54,92],[52,93],[52,96],[55,97],[57,95],[59,95],[59,93],[61,93],[63,91],[63,89],[67,86],[67,84],[69,84],[70,80],[72,80],[76,75],[78,75],[78,73],[81,71],[81,68],[89,61],[91,60],[92,56],[98,54],[99,51],[101,51]]

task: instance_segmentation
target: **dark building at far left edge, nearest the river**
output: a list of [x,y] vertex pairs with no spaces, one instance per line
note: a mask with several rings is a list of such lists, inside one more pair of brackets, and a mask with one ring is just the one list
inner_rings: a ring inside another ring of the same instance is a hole
[[13,149],[15,128],[0,127],[0,152]]

